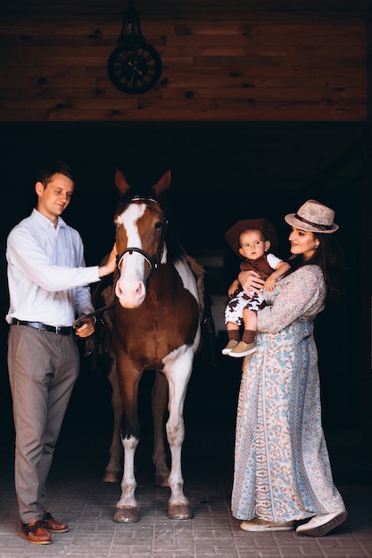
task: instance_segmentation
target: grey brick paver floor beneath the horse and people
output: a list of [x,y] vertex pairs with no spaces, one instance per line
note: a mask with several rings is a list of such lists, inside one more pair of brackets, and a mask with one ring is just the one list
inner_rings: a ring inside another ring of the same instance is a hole
[[140,521],[119,524],[112,521],[112,515],[120,485],[103,483],[96,468],[90,467],[90,457],[85,462],[80,456],[74,466],[71,459],[56,457],[48,487],[49,509],[57,519],[67,521],[70,530],[53,535],[49,546],[29,545],[18,535],[12,467],[9,459],[8,466],[3,464],[0,558],[372,558],[371,484],[340,486],[349,518],[332,534],[314,538],[299,537],[294,531],[247,533],[240,529],[229,509],[230,473],[213,472],[212,465],[211,472],[186,466],[186,496],[194,519],[169,520],[169,489],[155,487],[151,472],[143,470],[137,472]]

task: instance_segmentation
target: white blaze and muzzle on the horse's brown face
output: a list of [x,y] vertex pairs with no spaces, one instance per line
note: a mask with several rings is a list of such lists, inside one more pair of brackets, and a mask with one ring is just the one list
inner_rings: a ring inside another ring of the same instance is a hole
[[[142,242],[136,226],[137,220],[144,215],[145,204],[131,204],[116,223],[125,226],[128,248],[141,248]],[[137,252],[127,252],[121,259],[120,277],[115,286],[115,294],[124,308],[137,308],[145,300],[145,258]]]

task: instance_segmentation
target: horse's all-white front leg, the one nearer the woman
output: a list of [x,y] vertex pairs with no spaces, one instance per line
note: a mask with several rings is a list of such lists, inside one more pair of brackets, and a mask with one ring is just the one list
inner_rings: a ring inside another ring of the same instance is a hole
[[[178,353],[174,351],[174,353]],[[182,348],[185,350],[185,348]],[[166,365],[166,373],[169,383],[169,420],[166,424],[167,437],[171,455],[171,467],[169,473],[169,487],[171,490],[168,517],[170,519],[188,520],[194,516],[193,510],[184,494],[184,479],[182,477],[181,452],[185,439],[184,403],[186,397],[187,383],[193,368],[194,352],[186,349],[182,357],[176,358],[172,354],[171,360],[177,364]]]

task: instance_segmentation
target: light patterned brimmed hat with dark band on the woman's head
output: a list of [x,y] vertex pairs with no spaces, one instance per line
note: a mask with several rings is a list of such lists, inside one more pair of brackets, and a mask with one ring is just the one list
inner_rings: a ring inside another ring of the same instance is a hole
[[302,231],[310,233],[335,233],[338,225],[334,223],[335,211],[319,201],[308,200],[297,213],[285,215],[285,221]]

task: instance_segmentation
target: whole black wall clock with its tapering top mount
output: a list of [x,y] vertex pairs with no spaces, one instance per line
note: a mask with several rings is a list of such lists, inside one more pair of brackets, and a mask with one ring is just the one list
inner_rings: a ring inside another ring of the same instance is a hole
[[118,43],[107,63],[112,84],[124,93],[145,93],[161,77],[161,57],[146,43],[133,0],[129,0],[128,10],[123,14]]

